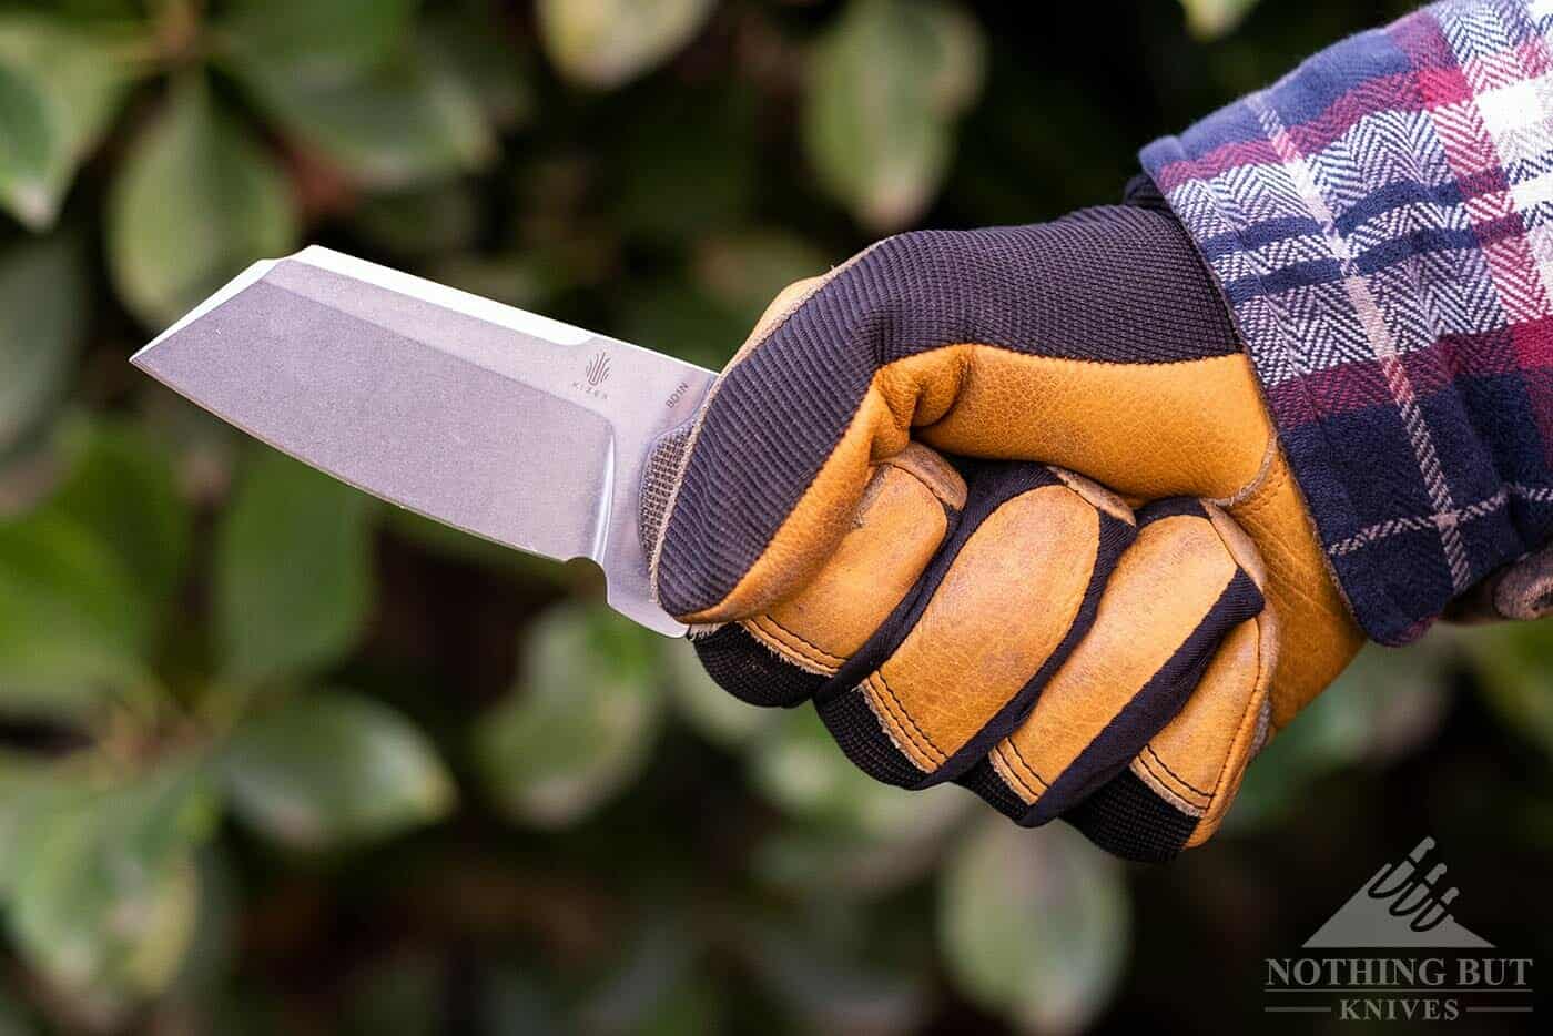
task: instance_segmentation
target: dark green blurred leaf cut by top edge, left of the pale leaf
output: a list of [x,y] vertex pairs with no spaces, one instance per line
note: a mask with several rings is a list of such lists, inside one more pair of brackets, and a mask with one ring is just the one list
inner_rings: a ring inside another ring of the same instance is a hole
[[236,0],[217,33],[287,75],[345,78],[394,54],[419,0]]

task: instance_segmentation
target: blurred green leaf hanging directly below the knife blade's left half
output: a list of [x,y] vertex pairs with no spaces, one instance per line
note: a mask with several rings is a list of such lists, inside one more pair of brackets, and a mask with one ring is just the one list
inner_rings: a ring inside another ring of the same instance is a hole
[[216,533],[224,676],[256,682],[325,669],[373,609],[376,506],[269,449],[255,450]]

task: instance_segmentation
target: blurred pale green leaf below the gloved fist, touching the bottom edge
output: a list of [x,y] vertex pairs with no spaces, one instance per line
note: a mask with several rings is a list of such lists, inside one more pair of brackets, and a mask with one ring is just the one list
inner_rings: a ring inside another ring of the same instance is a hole
[[1127,890],[1117,860],[1073,828],[989,817],[943,871],[938,933],[971,999],[1036,1033],[1078,1033],[1121,977]]

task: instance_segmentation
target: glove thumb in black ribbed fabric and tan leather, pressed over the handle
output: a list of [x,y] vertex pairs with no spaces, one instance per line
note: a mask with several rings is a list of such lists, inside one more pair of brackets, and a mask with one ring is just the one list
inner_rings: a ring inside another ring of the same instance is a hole
[[784,300],[713,387],[676,468],[658,601],[722,623],[789,596],[913,429],[1143,497],[1232,495],[1270,436],[1171,217],[899,235]]

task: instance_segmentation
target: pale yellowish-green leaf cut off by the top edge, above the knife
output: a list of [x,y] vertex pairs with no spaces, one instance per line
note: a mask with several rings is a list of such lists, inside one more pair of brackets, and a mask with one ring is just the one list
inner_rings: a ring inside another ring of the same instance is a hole
[[609,89],[672,57],[714,6],[711,0],[539,0],[539,34],[561,75]]

